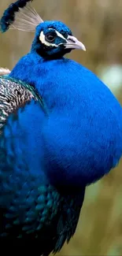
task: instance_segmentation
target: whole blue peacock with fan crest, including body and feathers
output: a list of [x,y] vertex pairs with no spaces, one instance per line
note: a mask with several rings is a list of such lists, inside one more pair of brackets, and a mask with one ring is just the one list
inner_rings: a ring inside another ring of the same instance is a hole
[[18,0],[0,25],[35,32],[0,77],[1,251],[48,256],[76,232],[86,187],[118,165],[122,109],[98,76],[65,58],[86,48],[64,23]]

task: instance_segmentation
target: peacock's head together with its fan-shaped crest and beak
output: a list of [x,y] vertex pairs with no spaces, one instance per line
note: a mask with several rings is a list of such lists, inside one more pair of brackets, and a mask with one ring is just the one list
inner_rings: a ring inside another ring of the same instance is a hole
[[61,58],[74,49],[86,50],[83,43],[61,21],[43,21],[31,6],[31,0],[18,0],[11,4],[0,24],[2,32],[9,28],[35,32],[31,51],[43,58]]

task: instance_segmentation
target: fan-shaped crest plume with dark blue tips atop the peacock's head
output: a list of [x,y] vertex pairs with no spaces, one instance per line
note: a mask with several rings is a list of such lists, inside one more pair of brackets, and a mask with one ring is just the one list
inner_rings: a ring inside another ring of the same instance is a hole
[[0,30],[6,32],[9,28],[25,32],[35,32],[36,26],[43,22],[39,14],[31,6],[32,0],[18,0],[11,4],[0,20]]

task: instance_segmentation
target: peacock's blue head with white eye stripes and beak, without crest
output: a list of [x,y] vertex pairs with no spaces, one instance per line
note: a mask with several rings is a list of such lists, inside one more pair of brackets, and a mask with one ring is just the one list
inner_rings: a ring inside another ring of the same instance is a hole
[[42,57],[60,58],[73,49],[86,50],[83,43],[72,36],[71,30],[61,21],[45,21],[36,27],[31,50]]

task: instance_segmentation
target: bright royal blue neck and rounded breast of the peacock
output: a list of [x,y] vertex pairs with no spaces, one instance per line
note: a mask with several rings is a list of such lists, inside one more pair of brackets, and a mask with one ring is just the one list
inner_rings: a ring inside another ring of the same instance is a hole
[[91,184],[116,165],[122,152],[122,111],[97,76],[75,61],[45,60],[33,52],[20,59],[10,76],[36,87],[46,102],[48,117],[38,117],[35,108],[31,117],[30,110],[30,127],[35,111],[37,121],[29,135],[32,140],[35,133],[40,141],[43,172],[52,184]]

